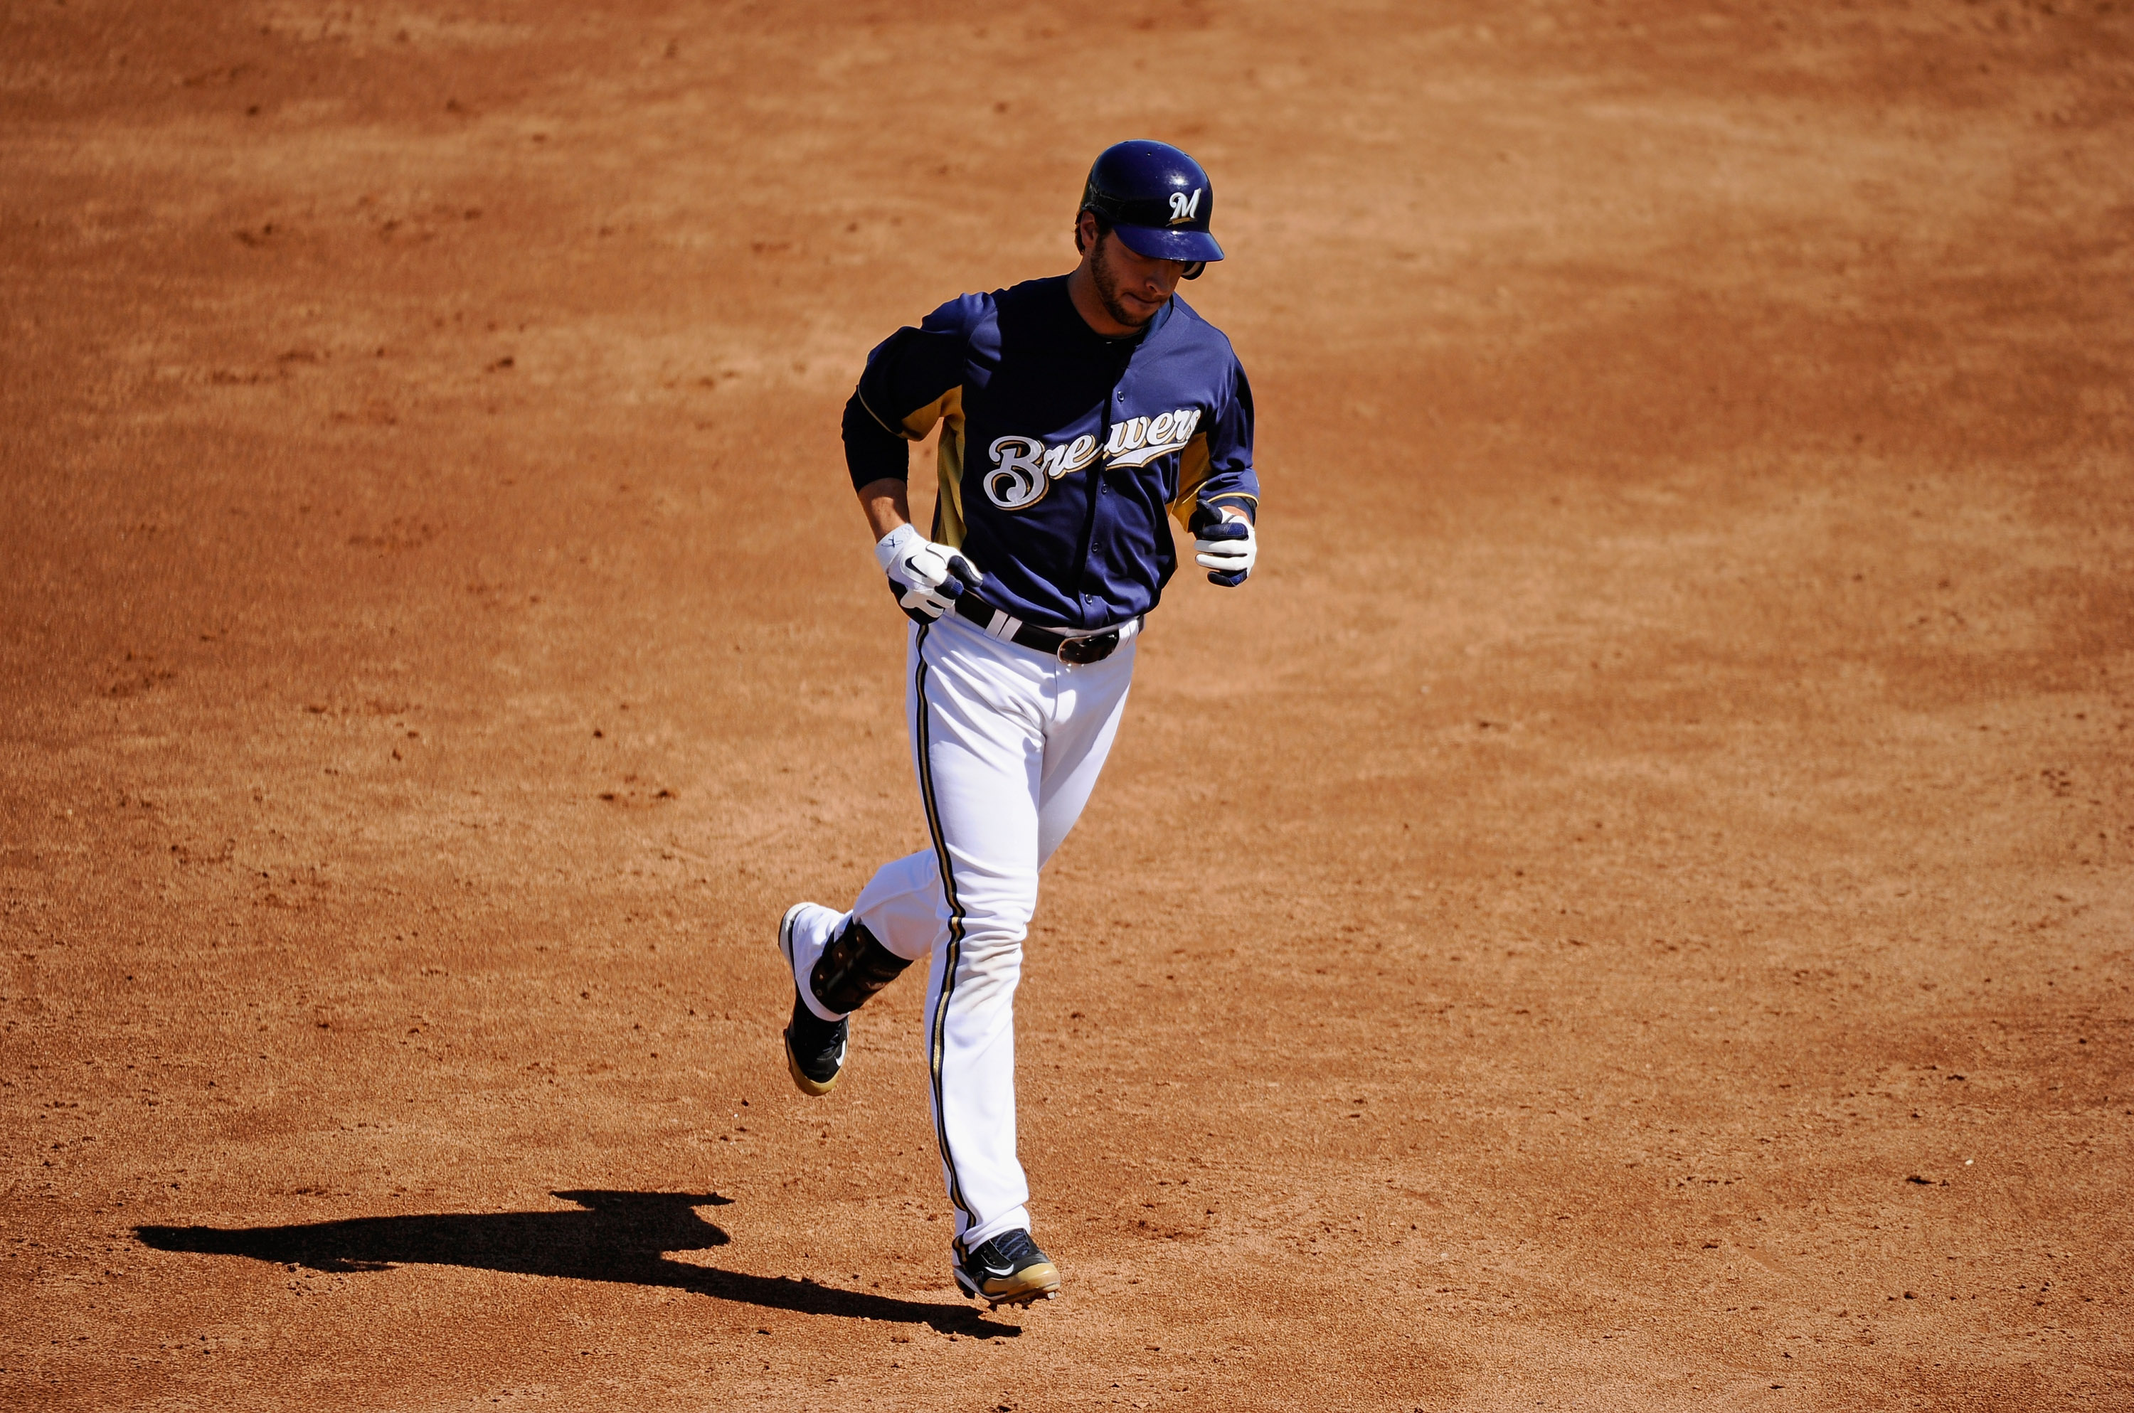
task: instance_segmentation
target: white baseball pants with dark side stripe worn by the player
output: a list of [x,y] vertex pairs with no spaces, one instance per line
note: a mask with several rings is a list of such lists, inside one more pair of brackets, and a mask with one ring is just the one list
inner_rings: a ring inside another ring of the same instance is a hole
[[933,845],[883,864],[851,911],[890,952],[933,956],[926,1065],[958,1255],[1031,1225],[1016,1159],[1022,937],[1037,871],[1118,734],[1133,649],[1129,636],[1069,666],[952,613],[911,628],[905,713]]

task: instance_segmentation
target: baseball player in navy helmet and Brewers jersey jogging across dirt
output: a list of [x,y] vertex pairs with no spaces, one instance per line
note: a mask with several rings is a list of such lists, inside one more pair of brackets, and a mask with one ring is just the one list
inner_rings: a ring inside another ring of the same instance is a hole
[[[809,1095],[845,1067],[847,1018],[907,965],[965,1293],[1058,1289],[1016,1159],[1016,982],[1037,871],[1112,749],[1135,636],[1176,568],[1165,512],[1216,585],[1253,572],[1253,391],[1229,339],[1174,295],[1223,248],[1214,190],[1163,143],[1099,154],[1067,275],[965,295],[898,329],[845,403],[845,461],[875,559],[911,619],[905,711],[928,847],[849,911],[779,922],[794,978],[785,1061]],[[920,534],[905,442],[941,427]]]

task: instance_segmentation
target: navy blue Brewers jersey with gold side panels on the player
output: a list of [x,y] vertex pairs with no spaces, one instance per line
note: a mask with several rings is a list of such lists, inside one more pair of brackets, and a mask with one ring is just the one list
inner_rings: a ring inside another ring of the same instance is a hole
[[1195,527],[1259,510],[1253,388],[1223,331],[1172,297],[1108,339],[1067,275],[952,299],[866,359],[845,406],[851,485],[907,476],[941,423],[933,538],[986,574],[982,598],[1046,628],[1157,606],[1178,568],[1165,510]]

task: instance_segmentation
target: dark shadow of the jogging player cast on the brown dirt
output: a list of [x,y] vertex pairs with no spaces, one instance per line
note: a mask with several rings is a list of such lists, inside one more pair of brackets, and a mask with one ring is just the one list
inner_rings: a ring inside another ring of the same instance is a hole
[[732,1240],[696,1212],[700,1206],[726,1206],[732,1197],[595,1191],[553,1195],[576,1202],[583,1210],[350,1217],[294,1227],[134,1227],[134,1236],[156,1251],[245,1255],[327,1272],[472,1266],[525,1276],[657,1285],[775,1311],[924,1323],[956,1334],[1020,1334],[1016,1325],[988,1321],[973,1306],[924,1304],[666,1259],[668,1251],[706,1251]]

